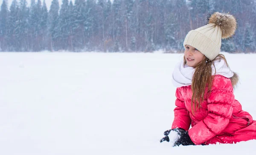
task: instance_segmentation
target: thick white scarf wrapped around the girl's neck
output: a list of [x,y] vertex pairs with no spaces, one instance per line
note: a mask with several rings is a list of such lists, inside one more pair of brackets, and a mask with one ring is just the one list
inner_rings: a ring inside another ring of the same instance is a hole
[[[234,73],[227,67],[224,59],[220,61],[214,62],[216,68],[215,75],[222,75],[227,78],[231,78]],[[195,68],[189,67],[188,65],[183,64],[183,59],[176,66],[172,74],[172,83],[175,87],[188,86],[192,84],[193,74],[195,72]],[[214,75],[215,69],[212,65],[212,75]]]

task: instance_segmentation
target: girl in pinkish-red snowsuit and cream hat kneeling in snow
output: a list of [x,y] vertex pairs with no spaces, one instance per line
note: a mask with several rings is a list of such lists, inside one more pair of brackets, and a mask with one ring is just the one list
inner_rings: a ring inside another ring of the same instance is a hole
[[169,142],[171,131],[180,137],[174,146],[256,139],[256,121],[234,98],[238,76],[219,54],[221,39],[231,37],[235,31],[236,19],[232,15],[215,12],[207,25],[186,35],[184,59],[173,72],[177,87],[175,118],[172,129],[164,132],[160,142]]

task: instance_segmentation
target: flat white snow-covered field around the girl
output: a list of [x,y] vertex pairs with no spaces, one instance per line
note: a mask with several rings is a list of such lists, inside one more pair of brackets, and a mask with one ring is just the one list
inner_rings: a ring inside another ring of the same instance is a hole
[[[256,119],[256,54],[225,54]],[[182,54],[0,53],[0,155],[255,155],[256,140],[159,142],[175,107]]]

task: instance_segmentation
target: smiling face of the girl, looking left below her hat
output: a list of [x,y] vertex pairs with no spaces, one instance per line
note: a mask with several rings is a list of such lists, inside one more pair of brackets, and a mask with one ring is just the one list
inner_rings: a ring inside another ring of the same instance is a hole
[[204,54],[202,54],[200,51],[198,51],[198,49],[190,45],[186,45],[184,56],[186,59],[186,64],[189,67],[193,68],[195,68],[195,66],[204,59]]

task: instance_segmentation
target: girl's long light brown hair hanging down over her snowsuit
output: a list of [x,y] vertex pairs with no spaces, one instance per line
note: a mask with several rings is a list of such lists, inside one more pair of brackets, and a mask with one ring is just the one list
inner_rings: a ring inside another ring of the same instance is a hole
[[[205,93],[207,93],[207,97],[210,95],[210,90],[212,88],[212,80],[216,73],[216,68],[214,62],[217,60],[223,59],[227,64],[227,59],[223,54],[218,54],[212,61],[209,60],[206,56],[204,56],[203,60],[195,66],[195,73],[192,78],[192,99],[191,99],[191,110],[194,113],[201,107],[201,102],[204,101]],[[184,56],[183,59],[184,64],[186,64],[186,59]],[[212,65],[215,69],[215,73],[212,76]],[[227,64],[229,68],[229,65]],[[231,80],[232,85],[233,81]],[[234,84],[235,85],[235,84]],[[233,87],[234,87],[233,85]],[[206,91],[207,87],[207,91]],[[194,111],[195,110],[195,111]]]

